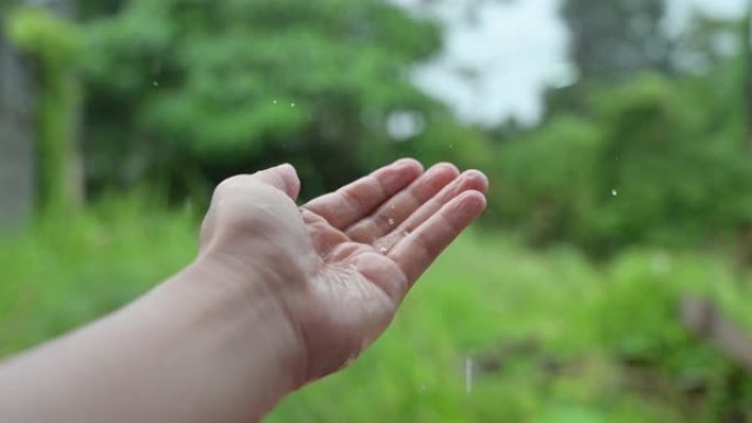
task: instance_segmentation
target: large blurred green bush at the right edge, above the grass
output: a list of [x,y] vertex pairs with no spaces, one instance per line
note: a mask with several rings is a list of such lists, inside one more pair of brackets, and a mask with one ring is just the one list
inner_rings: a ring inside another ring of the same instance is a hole
[[752,218],[743,144],[716,132],[703,102],[707,98],[692,80],[656,77],[596,96],[605,136],[599,191],[608,197],[618,190],[600,209],[604,240],[615,246],[690,245],[728,237]]

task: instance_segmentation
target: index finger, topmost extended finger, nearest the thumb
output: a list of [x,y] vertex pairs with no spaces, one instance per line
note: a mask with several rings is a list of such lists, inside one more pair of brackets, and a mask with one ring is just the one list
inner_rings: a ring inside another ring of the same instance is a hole
[[423,167],[417,160],[397,160],[335,192],[310,201],[305,208],[324,218],[332,226],[344,230],[369,215],[422,172]]

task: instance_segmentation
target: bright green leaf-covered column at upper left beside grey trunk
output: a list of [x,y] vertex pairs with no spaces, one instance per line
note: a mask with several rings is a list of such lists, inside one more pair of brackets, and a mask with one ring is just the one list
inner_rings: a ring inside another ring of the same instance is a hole
[[70,19],[69,0],[35,2],[10,16],[10,38],[34,62],[37,79],[35,171],[37,199],[45,211],[70,211],[80,203],[78,149],[80,82],[75,62],[81,34]]

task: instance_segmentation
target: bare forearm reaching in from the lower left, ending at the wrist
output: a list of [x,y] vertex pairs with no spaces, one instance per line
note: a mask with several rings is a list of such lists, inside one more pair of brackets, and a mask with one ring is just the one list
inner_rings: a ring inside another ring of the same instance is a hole
[[0,366],[3,422],[248,422],[296,388],[297,333],[263,281],[193,265]]

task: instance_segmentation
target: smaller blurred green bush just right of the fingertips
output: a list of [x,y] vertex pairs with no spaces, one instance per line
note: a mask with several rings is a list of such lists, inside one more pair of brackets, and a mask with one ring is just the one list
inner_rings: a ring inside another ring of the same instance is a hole
[[582,241],[582,222],[595,207],[597,156],[602,136],[596,125],[562,113],[540,130],[502,145],[498,179],[491,187],[505,221],[522,229],[534,245]]

